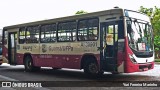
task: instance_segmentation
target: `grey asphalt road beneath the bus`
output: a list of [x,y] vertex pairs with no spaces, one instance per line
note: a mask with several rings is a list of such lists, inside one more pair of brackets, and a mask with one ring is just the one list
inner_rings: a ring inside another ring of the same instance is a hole
[[[42,68],[38,72],[25,72],[24,66],[10,66],[8,64],[2,64],[0,66],[0,81],[18,81],[25,83],[25,81],[36,81],[37,83],[45,83],[41,81],[48,81],[49,87],[42,88],[30,88],[30,90],[157,90],[158,87],[124,87],[127,83],[137,83],[134,81],[159,81],[160,83],[160,64],[156,64],[153,70],[145,72],[136,72],[130,74],[118,74],[113,75],[111,73],[105,73],[102,77],[93,78],[87,77],[82,70],[72,69],[60,69],[53,70],[52,68]],[[53,86],[52,86],[52,85]],[[141,83],[140,83],[141,84]],[[158,84],[159,85],[159,84]],[[2,83],[1,83],[2,86]],[[51,87],[52,86],[52,87]],[[118,86],[118,87],[117,87]],[[122,87],[121,87],[122,86]],[[79,88],[81,87],[81,88]],[[160,87],[159,87],[160,88]],[[28,88],[0,88],[2,90],[28,90]]]

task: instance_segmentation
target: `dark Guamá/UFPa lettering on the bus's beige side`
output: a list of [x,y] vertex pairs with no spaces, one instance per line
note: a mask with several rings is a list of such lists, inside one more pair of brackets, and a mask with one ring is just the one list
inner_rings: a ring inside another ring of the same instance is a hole
[[73,51],[73,47],[71,46],[59,46],[59,47],[49,46],[49,51]]

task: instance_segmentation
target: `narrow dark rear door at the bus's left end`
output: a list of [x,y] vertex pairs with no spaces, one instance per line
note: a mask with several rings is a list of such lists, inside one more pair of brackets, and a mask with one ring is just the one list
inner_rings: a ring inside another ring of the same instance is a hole
[[17,32],[8,33],[8,63],[11,65],[16,65],[16,41]]

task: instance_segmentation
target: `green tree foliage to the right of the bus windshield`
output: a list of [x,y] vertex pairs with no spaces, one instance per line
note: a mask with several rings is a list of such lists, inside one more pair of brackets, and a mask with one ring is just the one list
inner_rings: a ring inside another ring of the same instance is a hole
[[160,8],[156,6],[154,8],[145,8],[141,6],[139,11],[151,18],[155,50],[160,50]]

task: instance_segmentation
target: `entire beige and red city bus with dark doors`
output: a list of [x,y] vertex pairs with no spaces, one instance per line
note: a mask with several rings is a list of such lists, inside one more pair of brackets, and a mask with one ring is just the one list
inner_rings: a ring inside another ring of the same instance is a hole
[[98,75],[154,68],[150,18],[121,8],[6,26],[2,47],[3,63],[26,71],[52,67]]

